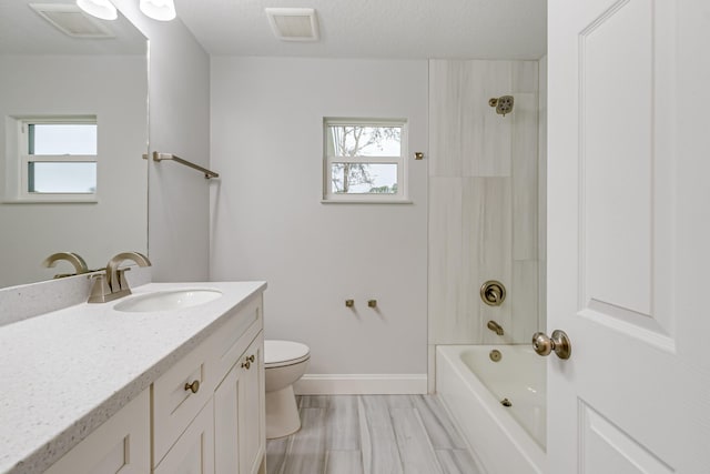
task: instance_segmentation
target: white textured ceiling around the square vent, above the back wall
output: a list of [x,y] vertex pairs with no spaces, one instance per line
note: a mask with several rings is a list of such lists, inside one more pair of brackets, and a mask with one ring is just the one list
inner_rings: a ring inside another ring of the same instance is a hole
[[[547,0],[175,0],[214,56],[539,59]],[[273,36],[264,8],[314,8],[321,39]]]

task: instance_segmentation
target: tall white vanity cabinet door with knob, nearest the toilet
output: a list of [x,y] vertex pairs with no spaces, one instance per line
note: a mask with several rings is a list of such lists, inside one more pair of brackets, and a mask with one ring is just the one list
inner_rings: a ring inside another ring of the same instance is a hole
[[260,333],[214,393],[217,474],[254,474],[262,464],[265,447],[263,351],[264,337]]

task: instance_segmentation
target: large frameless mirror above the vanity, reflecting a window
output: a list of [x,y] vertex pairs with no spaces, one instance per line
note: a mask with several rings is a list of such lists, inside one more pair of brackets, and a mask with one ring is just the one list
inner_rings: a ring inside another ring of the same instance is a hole
[[148,41],[62,2],[0,3],[0,288],[148,250]]

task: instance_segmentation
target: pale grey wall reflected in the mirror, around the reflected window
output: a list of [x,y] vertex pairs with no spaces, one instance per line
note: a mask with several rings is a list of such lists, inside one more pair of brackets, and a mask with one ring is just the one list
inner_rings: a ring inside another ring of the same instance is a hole
[[92,269],[121,251],[145,252],[145,73],[144,56],[0,58],[0,181],[18,179],[17,170],[4,175],[6,160],[18,160],[6,150],[16,140],[8,117],[97,115],[99,123],[97,203],[0,204],[0,288],[73,271],[42,268],[54,252],[79,252]]

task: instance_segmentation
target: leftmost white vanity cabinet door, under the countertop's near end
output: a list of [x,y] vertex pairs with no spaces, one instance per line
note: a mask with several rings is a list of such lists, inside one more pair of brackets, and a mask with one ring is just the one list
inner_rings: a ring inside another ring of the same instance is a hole
[[54,463],[45,474],[150,472],[150,395],[145,390]]

